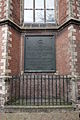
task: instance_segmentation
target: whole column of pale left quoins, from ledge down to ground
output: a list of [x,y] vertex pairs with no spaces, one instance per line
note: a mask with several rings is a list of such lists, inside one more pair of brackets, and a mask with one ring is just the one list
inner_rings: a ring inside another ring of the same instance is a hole
[[[1,53],[1,60],[0,60],[0,107],[4,107],[5,100],[7,100],[7,86],[6,86],[6,78],[4,77],[5,75],[7,76],[9,73],[11,73],[11,70],[8,68],[9,67],[9,59],[11,59],[11,56],[9,55],[10,53],[10,48],[12,47],[12,44],[10,43],[12,41],[12,33],[9,31],[8,25],[2,26],[2,53]],[[9,52],[8,52],[9,51]]]

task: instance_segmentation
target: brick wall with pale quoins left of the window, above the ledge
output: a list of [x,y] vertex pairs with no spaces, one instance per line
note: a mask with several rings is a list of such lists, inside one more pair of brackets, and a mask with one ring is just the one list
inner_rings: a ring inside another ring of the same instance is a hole
[[3,19],[20,24],[20,0],[0,0],[0,20]]

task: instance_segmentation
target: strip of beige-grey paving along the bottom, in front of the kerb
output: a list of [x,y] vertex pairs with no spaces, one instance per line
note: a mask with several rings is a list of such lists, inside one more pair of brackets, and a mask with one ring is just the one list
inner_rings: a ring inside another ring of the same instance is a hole
[[0,113],[0,120],[79,120],[79,112]]

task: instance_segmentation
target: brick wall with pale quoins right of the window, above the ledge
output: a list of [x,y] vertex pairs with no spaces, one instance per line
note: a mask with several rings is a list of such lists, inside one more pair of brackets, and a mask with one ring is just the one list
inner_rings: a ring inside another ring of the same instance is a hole
[[59,0],[59,24],[74,18],[80,20],[80,2],[79,0]]

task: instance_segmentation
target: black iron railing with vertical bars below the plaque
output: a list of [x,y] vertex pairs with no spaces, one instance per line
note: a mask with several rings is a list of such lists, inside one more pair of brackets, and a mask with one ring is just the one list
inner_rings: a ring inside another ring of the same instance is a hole
[[26,74],[8,79],[7,105],[68,105],[70,102],[68,76]]

